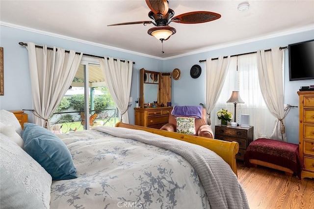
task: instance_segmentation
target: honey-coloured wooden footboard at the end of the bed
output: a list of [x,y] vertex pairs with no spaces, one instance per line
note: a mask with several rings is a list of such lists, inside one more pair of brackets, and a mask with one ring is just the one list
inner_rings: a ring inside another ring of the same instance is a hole
[[170,137],[179,139],[182,141],[186,141],[192,144],[198,144],[200,146],[203,146],[213,152],[215,152],[217,155],[219,155],[221,158],[223,158],[231,167],[235,175],[237,176],[236,171],[236,161],[235,161],[235,155],[239,151],[239,144],[237,142],[229,142],[229,141],[222,141],[218,139],[211,139],[201,136],[194,136],[194,135],[188,135],[183,133],[177,133],[177,132],[170,132],[170,131],[163,131],[158,129],[152,129],[147,128],[143,126],[136,126],[131,124],[125,124],[122,122],[118,122],[116,127],[122,127],[122,128],[128,128],[128,129],[136,129],[136,130],[142,130],[142,131],[148,131],[151,133],[156,133],[158,135]]

